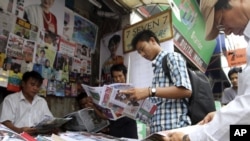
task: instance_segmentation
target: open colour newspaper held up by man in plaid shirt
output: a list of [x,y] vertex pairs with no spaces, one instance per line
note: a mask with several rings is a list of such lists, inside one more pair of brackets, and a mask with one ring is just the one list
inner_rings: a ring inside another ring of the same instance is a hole
[[92,97],[96,107],[110,120],[127,116],[147,123],[157,109],[148,99],[131,101],[128,95],[119,93],[119,90],[134,88],[132,84],[114,83],[103,87],[82,84],[82,87],[87,95]]

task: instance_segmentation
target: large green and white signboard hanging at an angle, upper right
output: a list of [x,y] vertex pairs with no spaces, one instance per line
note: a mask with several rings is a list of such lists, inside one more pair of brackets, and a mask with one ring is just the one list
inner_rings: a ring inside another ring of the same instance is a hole
[[200,71],[205,72],[216,41],[205,40],[205,22],[196,0],[171,0],[170,5],[173,10],[173,26],[177,32],[174,37],[176,47]]

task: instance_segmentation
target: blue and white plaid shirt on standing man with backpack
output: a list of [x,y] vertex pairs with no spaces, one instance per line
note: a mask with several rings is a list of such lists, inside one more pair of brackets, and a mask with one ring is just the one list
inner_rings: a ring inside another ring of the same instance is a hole
[[[154,71],[152,87],[169,87],[174,85],[192,90],[184,58],[176,52],[168,53],[166,62],[170,72],[170,81],[168,75],[162,69],[162,59],[165,54],[166,52],[161,51],[152,61]],[[187,115],[187,105],[183,101],[184,99],[152,97],[150,100],[157,105],[157,110],[150,122],[151,133],[191,124],[190,118]]]

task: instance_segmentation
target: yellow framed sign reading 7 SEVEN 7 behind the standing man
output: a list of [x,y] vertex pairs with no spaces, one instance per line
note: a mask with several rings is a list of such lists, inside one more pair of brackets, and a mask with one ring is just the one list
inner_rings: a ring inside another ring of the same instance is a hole
[[171,10],[165,10],[146,20],[131,25],[123,30],[123,52],[133,51],[131,41],[133,37],[142,30],[152,30],[160,42],[173,37]]

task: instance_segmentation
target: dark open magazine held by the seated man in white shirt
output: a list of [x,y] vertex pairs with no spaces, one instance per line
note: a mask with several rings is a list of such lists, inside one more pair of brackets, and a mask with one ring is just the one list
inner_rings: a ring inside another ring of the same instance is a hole
[[47,133],[53,129],[61,127],[66,122],[70,121],[72,118],[49,118],[45,117],[40,123],[38,123],[35,128],[38,133]]

